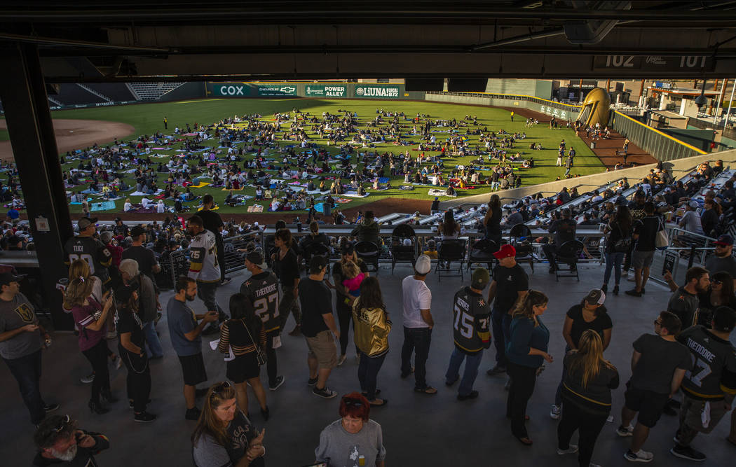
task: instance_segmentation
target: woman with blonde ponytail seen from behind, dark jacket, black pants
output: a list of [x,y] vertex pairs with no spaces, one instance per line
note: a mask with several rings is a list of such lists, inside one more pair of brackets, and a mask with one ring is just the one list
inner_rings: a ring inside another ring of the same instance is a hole
[[[578,349],[565,356],[567,374],[562,382],[562,418],[557,426],[557,454],[578,451],[581,467],[592,466],[595,440],[611,412],[611,390],[618,388],[618,370],[603,357],[603,340],[587,329]],[[578,430],[578,446],[570,444]]]

